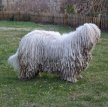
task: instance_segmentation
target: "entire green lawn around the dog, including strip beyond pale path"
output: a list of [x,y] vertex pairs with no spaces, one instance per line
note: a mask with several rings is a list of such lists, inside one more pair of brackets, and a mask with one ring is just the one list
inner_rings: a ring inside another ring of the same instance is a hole
[[[0,21],[0,27],[37,28],[63,32],[68,26],[30,22]],[[20,81],[8,63],[18,43],[28,31],[0,30],[0,107],[108,107],[108,33],[93,51],[93,60],[83,79],[76,84],[42,74],[30,81]]]

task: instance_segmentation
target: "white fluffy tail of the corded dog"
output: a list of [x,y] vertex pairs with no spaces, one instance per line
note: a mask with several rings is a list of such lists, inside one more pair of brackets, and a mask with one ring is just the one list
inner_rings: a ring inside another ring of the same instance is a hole
[[14,67],[15,70],[19,70],[18,52],[9,57],[8,63]]

